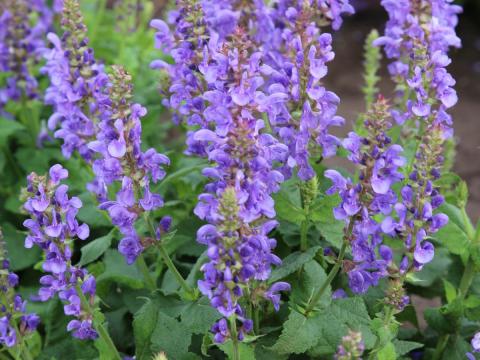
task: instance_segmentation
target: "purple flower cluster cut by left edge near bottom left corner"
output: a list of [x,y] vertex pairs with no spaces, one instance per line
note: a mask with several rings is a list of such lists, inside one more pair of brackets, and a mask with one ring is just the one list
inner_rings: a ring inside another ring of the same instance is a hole
[[[35,331],[40,318],[36,314],[26,313],[27,302],[23,301],[20,295],[15,294],[14,288],[18,285],[18,276],[9,271],[9,267],[7,250],[0,232],[0,344],[13,347],[18,344],[19,336]],[[14,324],[14,322],[17,323]]]

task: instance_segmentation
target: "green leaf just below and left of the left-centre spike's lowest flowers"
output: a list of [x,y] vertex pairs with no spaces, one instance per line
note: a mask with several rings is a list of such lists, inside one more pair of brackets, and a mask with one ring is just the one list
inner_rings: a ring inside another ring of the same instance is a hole
[[118,251],[107,250],[103,262],[105,271],[97,278],[99,285],[102,282],[113,281],[132,289],[140,289],[144,286],[140,271],[136,266],[127,265],[124,257]]

